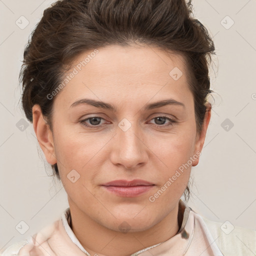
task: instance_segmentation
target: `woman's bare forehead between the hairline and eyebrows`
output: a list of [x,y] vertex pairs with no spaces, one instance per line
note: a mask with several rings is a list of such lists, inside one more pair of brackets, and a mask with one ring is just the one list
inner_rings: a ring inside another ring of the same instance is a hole
[[121,102],[130,97],[157,100],[166,94],[182,101],[190,94],[184,58],[151,46],[110,45],[82,52],[64,79],[59,94],[70,104],[84,95],[108,101],[118,97]]

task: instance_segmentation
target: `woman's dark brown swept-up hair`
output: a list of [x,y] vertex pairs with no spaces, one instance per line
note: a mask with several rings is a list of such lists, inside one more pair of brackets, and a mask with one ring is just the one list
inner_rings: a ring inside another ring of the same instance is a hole
[[[20,72],[22,106],[28,120],[32,121],[32,106],[38,104],[52,130],[55,96],[48,99],[47,95],[61,83],[79,54],[133,43],[184,57],[200,134],[214,45],[205,27],[191,17],[190,1],[184,0],[60,0],[45,9],[24,51]],[[52,167],[59,177],[57,164]]]

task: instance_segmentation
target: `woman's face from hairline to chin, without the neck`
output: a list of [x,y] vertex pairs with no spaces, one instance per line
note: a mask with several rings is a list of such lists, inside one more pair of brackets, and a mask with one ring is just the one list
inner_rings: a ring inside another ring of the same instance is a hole
[[[176,209],[206,129],[196,133],[181,56],[148,46],[92,52],[80,54],[64,76],[53,137],[41,147],[57,162],[70,208],[112,230],[145,230]],[[149,184],[124,184],[134,179]],[[114,180],[124,183],[106,184]]]

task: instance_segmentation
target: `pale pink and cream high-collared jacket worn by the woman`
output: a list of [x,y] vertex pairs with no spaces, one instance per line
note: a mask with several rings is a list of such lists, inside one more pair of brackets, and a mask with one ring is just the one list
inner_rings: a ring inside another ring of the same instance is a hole
[[[130,256],[253,256],[256,255],[256,230],[234,227],[208,220],[188,207],[182,200],[181,227],[168,240],[134,252]],[[70,223],[67,208],[61,217],[26,240],[16,242],[0,256],[94,256],[80,244]],[[111,256],[111,255],[108,255]]]

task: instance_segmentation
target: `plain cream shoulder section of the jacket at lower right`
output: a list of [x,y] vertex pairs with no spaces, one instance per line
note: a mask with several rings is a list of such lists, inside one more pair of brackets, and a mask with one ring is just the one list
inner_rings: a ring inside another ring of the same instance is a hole
[[[198,214],[197,214],[198,215]],[[228,220],[222,222],[209,220],[201,215],[210,234],[225,256],[256,254],[256,230],[234,226]]]

